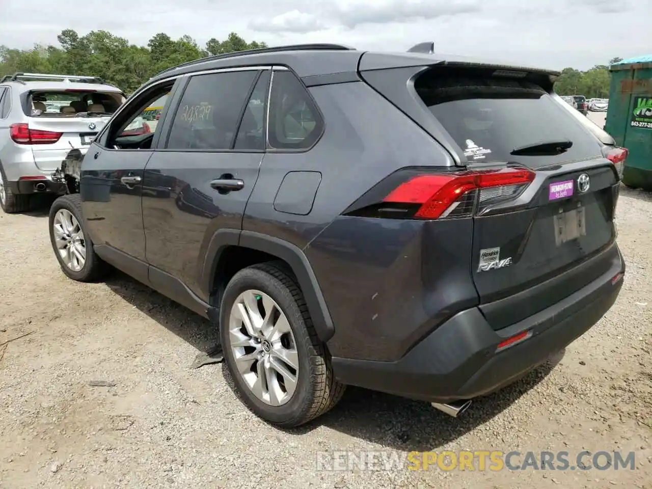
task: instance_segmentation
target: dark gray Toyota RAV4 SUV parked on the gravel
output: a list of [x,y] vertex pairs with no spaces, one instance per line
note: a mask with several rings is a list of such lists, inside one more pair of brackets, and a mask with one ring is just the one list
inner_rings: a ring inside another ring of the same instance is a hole
[[[63,272],[112,265],[209,318],[278,426],[357,385],[458,415],[614,304],[627,150],[555,72],[332,44],[151,78],[57,171]],[[154,100],[154,130],[125,132]]]

